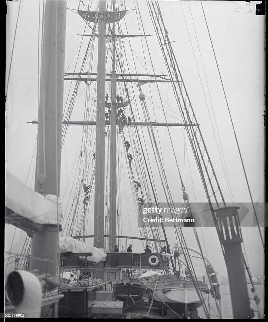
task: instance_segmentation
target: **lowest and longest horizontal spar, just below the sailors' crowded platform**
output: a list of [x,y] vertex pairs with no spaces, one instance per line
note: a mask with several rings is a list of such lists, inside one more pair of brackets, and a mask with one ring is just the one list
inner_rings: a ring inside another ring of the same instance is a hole
[[[38,121],[32,121],[32,122],[27,122],[27,123],[31,123],[31,124],[38,124]],[[68,125],[96,125],[96,121],[62,121],[62,124],[68,124]],[[110,121],[105,122],[105,125],[110,125]],[[120,123],[117,123],[117,125],[119,126]],[[137,126],[198,126],[199,124],[189,124],[189,123],[166,123],[166,122],[151,122],[151,123],[147,123],[147,122],[131,122],[128,123],[126,122],[125,124],[121,124],[124,126],[133,126],[133,125],[137,125]]]

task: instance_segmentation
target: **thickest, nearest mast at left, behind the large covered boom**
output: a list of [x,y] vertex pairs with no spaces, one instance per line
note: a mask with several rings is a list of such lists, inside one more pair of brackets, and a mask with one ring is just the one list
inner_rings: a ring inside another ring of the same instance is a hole
[[[35,191],[59,196],[66,1],[47,1],[44,14]],[[32,239],[30,270],[56,276],[58,267],[58,227],[45,225]]]

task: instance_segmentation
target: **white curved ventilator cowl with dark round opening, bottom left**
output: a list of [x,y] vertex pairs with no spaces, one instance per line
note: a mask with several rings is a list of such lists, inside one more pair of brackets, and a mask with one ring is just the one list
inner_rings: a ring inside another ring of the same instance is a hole
[[25,270],[11,272],[6,281],[6,297],[26,318],[40,318],[42,287],[39,279]]

